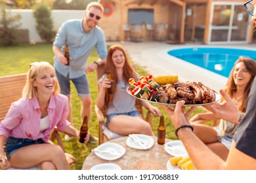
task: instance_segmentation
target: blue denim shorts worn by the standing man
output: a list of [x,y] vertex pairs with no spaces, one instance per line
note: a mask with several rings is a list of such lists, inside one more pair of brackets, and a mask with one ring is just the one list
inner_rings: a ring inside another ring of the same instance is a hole
[[70,80],[72,80],[79,96],[90,96],[90,88],[87,75],[84,74],[79,78],[70,79],[69,76],[62,76],[60,73],[58,73],[58,71],[56,71],[56,69],[55,73],[58,78],[58,83],[60,84],[60,93],[63,95],[70,95]]

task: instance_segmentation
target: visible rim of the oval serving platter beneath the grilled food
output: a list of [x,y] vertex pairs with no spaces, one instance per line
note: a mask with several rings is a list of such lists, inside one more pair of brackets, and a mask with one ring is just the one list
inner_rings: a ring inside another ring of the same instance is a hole
[[[158,104],[158,105],[169,105],[169,106],[175,106],[176,103],[160,103],[160,102],[156,102],[156,101],[150,101],[150,100],[146,100],[146,99],[142,99],[142,98],[139,98],[139,97],[136,97],[135,95],[132,95],[131,94],[131,91],[133,90],[133,88],[131,88],[131,86],[128,86],[127,88],[127,93],[129,93],[129,95],[131,95],[132,97],[135,97],[135,99],[139,99],[141,101],[147,101],[149,103],[154,103],[154,104]],[[211,103],[196,103],[196,104],[184,104],[185,107],[196,107],[196,106],[202,106],[202,105],[209,105],[209,104],[212,104],[212,103],[216,103],[217,101],[219,101],[221,99],[221,95],[218,93],[218,92],[215,92],[213,90],[213,92],[215,93],[215,101],[211,102]]]

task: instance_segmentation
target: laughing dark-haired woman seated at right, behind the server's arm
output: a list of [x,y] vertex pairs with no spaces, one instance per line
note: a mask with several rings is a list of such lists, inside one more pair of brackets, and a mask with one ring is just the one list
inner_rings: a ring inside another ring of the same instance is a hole
[[[245,112],[247,98],[251,90],[251,83],[256,75],[256,61],[251,58],[240,57],[228,77],[225,92],[241,112]],[[223,101],[223,100],[222,100]],[[219,125],[197,124],[197,121],[219,120],[211,112],[196,114],[190,119],[194,127],[194,133],[202,140],[215,154],[226,160],[230,150],[232,138],[237,124],[220,119]]]

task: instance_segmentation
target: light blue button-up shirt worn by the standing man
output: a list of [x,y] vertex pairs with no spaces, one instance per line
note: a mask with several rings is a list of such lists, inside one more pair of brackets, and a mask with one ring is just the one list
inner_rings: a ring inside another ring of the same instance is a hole
[[70,65],[66,66],[58,62],[54,56],[54,67],[63,76],[79,78],[85,74],[87,59],[93,48],[96,47],[98,57],[106,58],[106,40],[104,32],[96,25],[94,29],[85,33],[82,27],[83,20],[68,20],[62,24],[53,42],[54,46],[61,48],[64,53],[65,44],[68,44],[70,52]]

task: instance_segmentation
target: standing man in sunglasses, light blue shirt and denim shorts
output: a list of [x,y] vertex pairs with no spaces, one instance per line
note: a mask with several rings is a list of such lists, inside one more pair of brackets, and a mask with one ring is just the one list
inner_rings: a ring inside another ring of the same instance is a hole
[[[81,98],[81,117],[87,115],[88,121],[91,117],[91,94],[87,72],[95,71],[96,67],[106,61],[106,40],[104,32],[98,23],[104,12],[100,3],[92,2],[87,5],[82,20],[68,20],[62,24],[53,42],[54,69],[60,83],[61,93],[68,96],[70,114],[68,120],[72,122],[72,105],[70,96],[70,80],[75,85],[77,93]],[[70,63],[64,57],[65,44],[68,44],[70,52]],[[96,48],[98,61],[88,64],[88,58]],[[89,142],[96,143],[96,138],[91,137]]]

